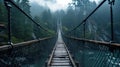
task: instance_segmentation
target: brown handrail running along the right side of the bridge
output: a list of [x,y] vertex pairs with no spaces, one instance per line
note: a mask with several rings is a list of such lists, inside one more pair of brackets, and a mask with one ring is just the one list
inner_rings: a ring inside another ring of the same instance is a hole
[[70,39],[74,39],[74,40],[78,40],[78,41],[85,41],[85,42],[89,42],[89,43],[94,43],[94,44],[97,44],[97,45],[103,45],[103,46],[107,46],[107,47],[111,46],[111,47],[114,47],[114,48],[120,48],[119,43],[90,40],[90,39],[84,39],[84,38],[77,38],[77,37],[73,37],[73,36],[65,36],[65,37],[70,38]]

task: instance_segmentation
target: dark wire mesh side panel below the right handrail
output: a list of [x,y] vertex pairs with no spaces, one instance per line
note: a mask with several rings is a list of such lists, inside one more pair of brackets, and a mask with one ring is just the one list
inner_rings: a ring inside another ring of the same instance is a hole
[[67,47],[81,67],[119,67],[120,44],[64,38]]

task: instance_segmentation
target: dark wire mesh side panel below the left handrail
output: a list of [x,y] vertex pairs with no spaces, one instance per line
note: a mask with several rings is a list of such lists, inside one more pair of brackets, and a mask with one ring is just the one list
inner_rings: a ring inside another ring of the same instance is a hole
[[[30,67],[45,66],[45,62],[54,47],[56,38],[41,39],[30,44],[16,44],[0,51],[0,66]],[[24,46],[24,47],[23,47]],[[6,46],[4,46],[6,47]],[[9,49],[8,49],[9,48]],[[1,47],[0,47],[1,49]],[[46,50],[47,49],[47,50]]]

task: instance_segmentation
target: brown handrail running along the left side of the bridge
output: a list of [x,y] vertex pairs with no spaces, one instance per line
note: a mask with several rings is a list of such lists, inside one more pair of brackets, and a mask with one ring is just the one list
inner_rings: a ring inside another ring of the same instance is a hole
[[35,39],[35,40],[30,40],[30,41],[16,43],[16,44],[13,44],[13,45],[3,45],[3,46],[0,46],[0,51],[12,49],[12,48],[17,48],[17,47],[29,46],[29,45],[31,45],[33,43],[36,43],[36,42],[39,42],[39,41],[43,41],[43,40],[48,40],[48,39],[51,39],[53,37],[54,36],[44,37],[44,38],[39,38],[39,39]]

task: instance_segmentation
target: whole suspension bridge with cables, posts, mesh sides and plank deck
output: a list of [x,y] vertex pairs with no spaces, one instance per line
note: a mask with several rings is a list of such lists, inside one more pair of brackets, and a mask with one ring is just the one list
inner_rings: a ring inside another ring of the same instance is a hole
[[[0,67],[31,67],[29,66],[30,62],[39,57],[39,51],[43,50],[46,54],[43,54],[43,58],[39,58],[43,60],[37,61],[38,64],[40,62],[44,63],[43,65],[40,64],[40,67],[120,67],[120,44],[114,42],[112,6],[115,0],[108,0],[111,17],[111,41],[86,39],[86,21],[106,1],[103,0],[79,25],[67,33],[62,31],[62,25],[58,22],[58,32],[55,35],[14,44],[11,41],[10,4],[14,5],[14,7],[36,24],[38,28],[41,28],[47,33],[50,32],[34,21],[12,0],[4,0],[4,4],[8,10],[9,41],[8,44],[0,46]],[[82,35],[84,35],[84,38],[75,37],[76,29],[82,25]],[[39,49],[40,47],[43,49]]]

